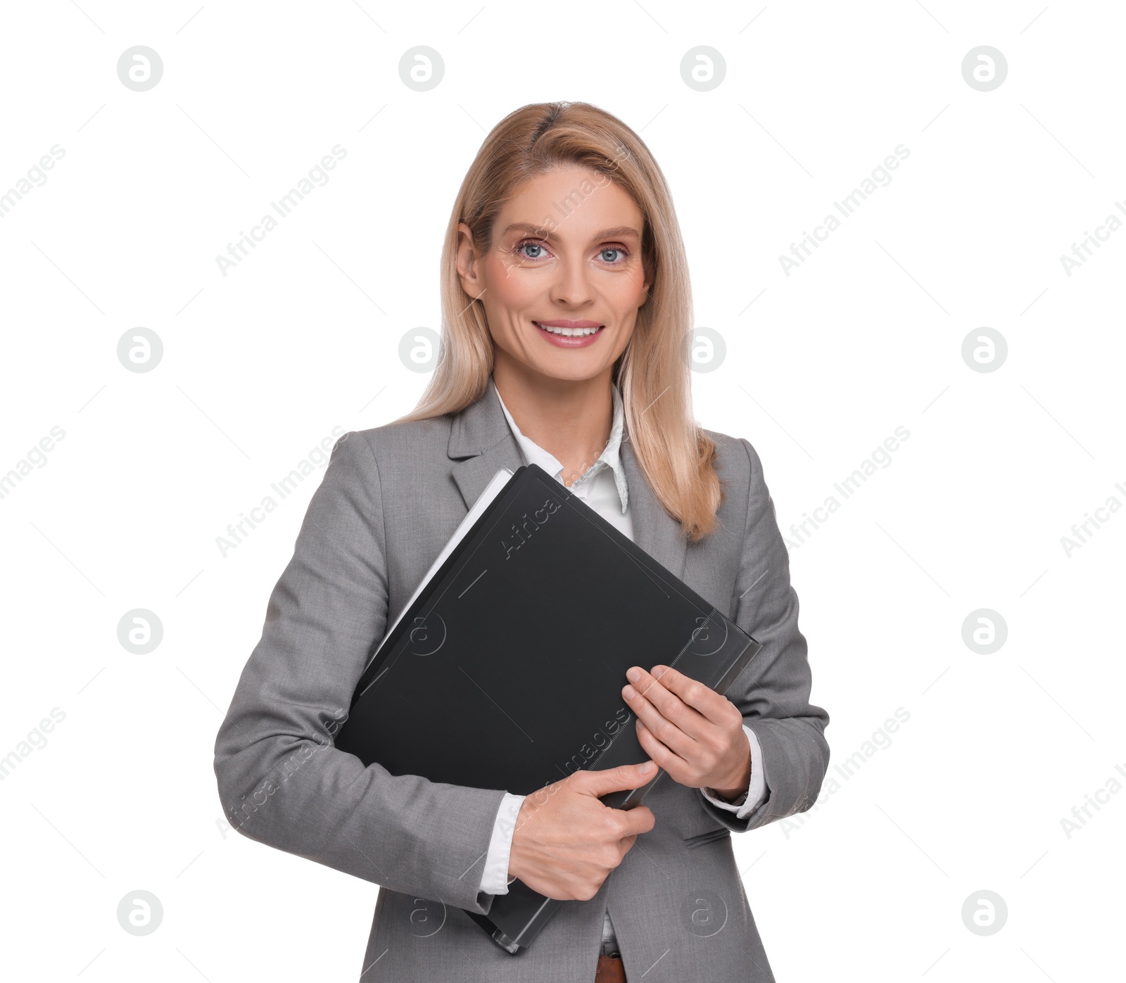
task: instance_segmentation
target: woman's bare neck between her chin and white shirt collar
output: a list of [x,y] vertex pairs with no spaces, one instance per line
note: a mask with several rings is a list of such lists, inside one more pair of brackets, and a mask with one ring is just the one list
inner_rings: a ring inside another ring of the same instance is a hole
[[563,465],[572,484],[606,448],[614,421],[614,367],[592,378],[545,376],[497,349],[493,383],[509,413],[529,440]]

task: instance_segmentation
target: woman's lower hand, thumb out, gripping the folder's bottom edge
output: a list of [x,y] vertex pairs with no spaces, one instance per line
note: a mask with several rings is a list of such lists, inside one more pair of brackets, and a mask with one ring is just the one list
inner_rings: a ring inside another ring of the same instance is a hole
[[652,761],[575,771],[527,796],[516,819],[509,877],[556,901],[590,901],[637,834],[655,823],[645,805],[610,808],[598,797],[638,788],[655,772]]

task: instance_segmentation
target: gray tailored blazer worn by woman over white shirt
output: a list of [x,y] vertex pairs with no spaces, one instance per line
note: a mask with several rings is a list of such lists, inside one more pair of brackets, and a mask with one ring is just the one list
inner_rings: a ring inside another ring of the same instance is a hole
[[459,413],[337,443],[220,727],[215,775],[241,833],[381,885],[364,983],[593,981],[605,910],[631,981],[774,980],[731,832],[813,805],[829,715],[808,701],[797,595],[758,454],[708,436],[726,499],[721,528],[694,545],[656,501],[628,436],[622,459],[637,545],[763,645],[727,696],[759,739],[767,797],[738,820],[662,774],[645,797],[654,829],[593,899],[564,904],[516,956],[462,910],[492,903],[477,887],[506,789],[365,768],[331,739],[375,644],[489,479],[520,466],[519,447],[491,385]]

